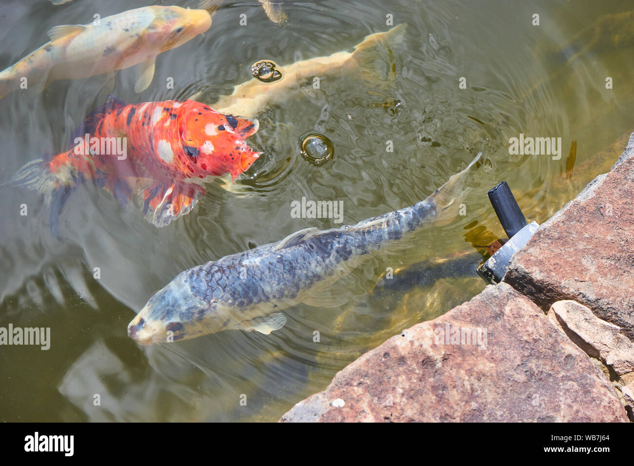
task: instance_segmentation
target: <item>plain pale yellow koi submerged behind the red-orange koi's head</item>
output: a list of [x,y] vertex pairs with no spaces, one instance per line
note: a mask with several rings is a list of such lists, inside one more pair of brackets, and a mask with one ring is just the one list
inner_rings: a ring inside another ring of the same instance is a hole
[[[315,76],[339,74],[342,70],[358,69],[361,53],[373,47],[385,45],[389,48],[403,40],[406,23],[401,23],[386,32],[377,32],[366,36],[363,41],[354,46],[352,52],[340,51],[328,56],[318,56],[307,60],[300,60],[290,65],[283,65],[275,69],[280,72],[281,79],[273,82],[262,82],[257,78],[242,82],[233,87],[230,95],[222,96],[212,105],[219,112],[256,117],[262,108],[273,103],[280,105],[302,89],[302,84],[310,82]],[[202,91],[190,96],[190,99],[200,98]]]

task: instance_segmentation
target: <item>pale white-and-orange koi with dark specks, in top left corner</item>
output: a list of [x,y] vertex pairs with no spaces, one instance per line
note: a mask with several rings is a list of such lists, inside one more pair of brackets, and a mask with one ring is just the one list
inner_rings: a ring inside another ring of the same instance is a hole
[[[86,25],[61,25],[48,30],[51,41],[0,72],[0,98],[27,86],[42,90],[58,79],[77,79],[142,63],[134,91],[147,89],[157,55],[177,48],[211,26],[217,0],[202,0],[205,9],[146,6],[101,18]],[[209,11],[207,11],[209,10]]]

